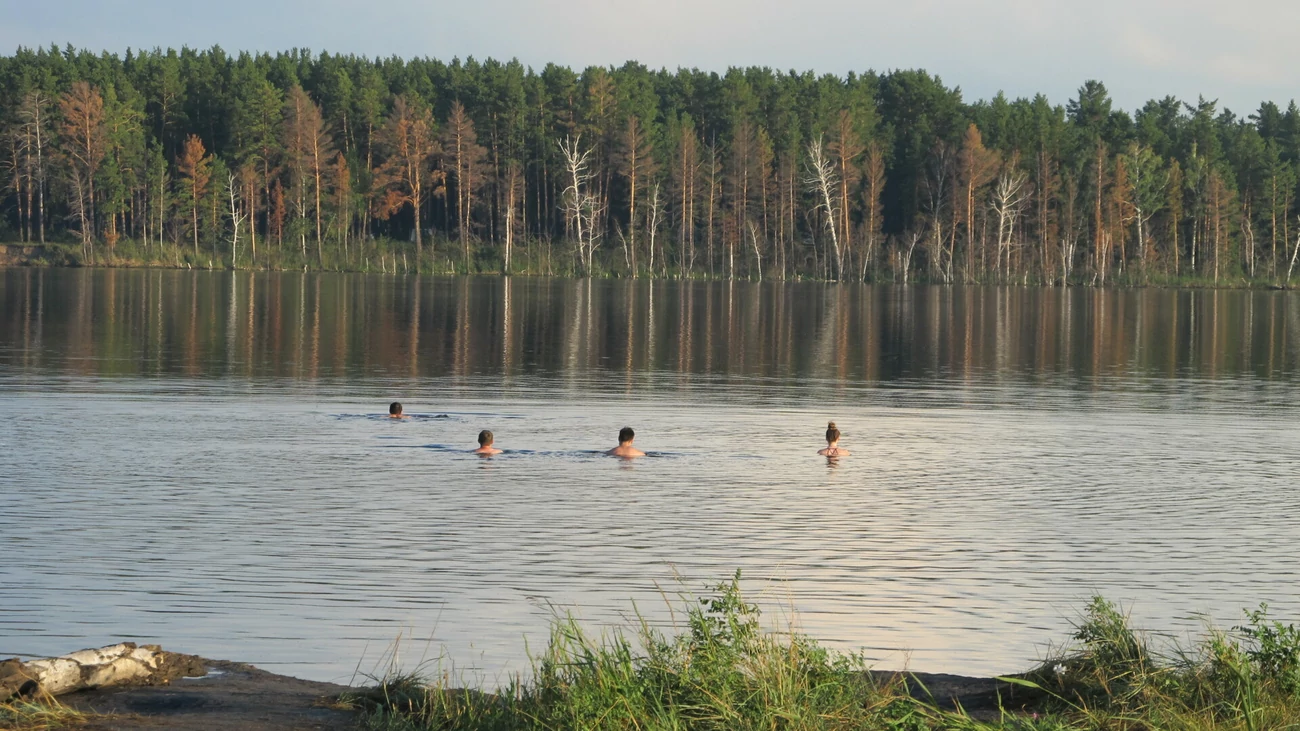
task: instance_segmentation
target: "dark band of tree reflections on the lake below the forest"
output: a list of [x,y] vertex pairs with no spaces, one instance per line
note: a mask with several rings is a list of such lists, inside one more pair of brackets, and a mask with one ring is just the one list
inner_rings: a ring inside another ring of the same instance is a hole
[[170,271],[3,272],[18,372],[783,382],[1290,377],[1280,291],[888,287]]

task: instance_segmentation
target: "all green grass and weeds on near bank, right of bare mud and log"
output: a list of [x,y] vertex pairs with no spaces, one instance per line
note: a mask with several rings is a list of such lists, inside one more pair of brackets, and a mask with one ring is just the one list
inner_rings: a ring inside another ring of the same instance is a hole
[[1283,730],[1300,728],[1300,631],[1261,607],[1191,648],[1157,650],[1105,600],[1041,667],[1000,679],[992,711],[927,697],[789,628],[763,626],[738,581],[684,600],[684,624],[592,633],[556,619],[526,676],[491,691],[395,674],[343,698],[361,726],[415,730]]

